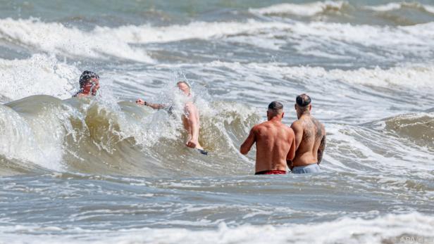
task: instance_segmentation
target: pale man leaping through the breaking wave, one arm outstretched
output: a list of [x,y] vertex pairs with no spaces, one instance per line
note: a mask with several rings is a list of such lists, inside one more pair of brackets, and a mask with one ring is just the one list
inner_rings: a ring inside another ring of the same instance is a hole
[[[178,86],[178,89],[180,89],[180,91],[182,91],[185,96],[189,98],[192,97],[190,84],[181,81],[178,82],[176,86]],[[163,109],[170,107],[168,105],[159,103],[148,103],[146,101],[143,101],[142,99],[138,99],[136,103],[154,109]],[[185,103],[184,105],[184,116],[182,116],[182,124],[184,125],[184,128],[188,133],[187,143],[185,143],[185,145],[189,148],[195,148],[199,150],[199,152],[204,155],[208,154],[199,143],[199,110],[197,110],[196,105],[194,105],[192,101],[187,101],[187,103]]]

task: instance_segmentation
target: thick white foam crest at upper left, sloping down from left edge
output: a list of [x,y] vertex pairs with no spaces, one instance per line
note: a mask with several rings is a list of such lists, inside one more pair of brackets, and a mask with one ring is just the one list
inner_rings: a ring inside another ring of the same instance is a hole
[[123,38],[113,38],[111,33],[102,34],[98,30],[86,32],[61,23],[44,23],[37,19],[0,20],[0,39],[66,56],[103,59],[113,56],[152,62],[145,51],[133,48]]

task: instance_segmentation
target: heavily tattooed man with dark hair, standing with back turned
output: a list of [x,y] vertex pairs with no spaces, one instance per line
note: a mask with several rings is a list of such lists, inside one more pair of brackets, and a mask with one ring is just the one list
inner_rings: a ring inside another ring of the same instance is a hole
[[325,127],[311,115],[311,98],[306,94],[297,96],[297,118],[291,128],[295,133],[296,152],[290,169],[293,174],[320,172],[319,164],[325,148]]

